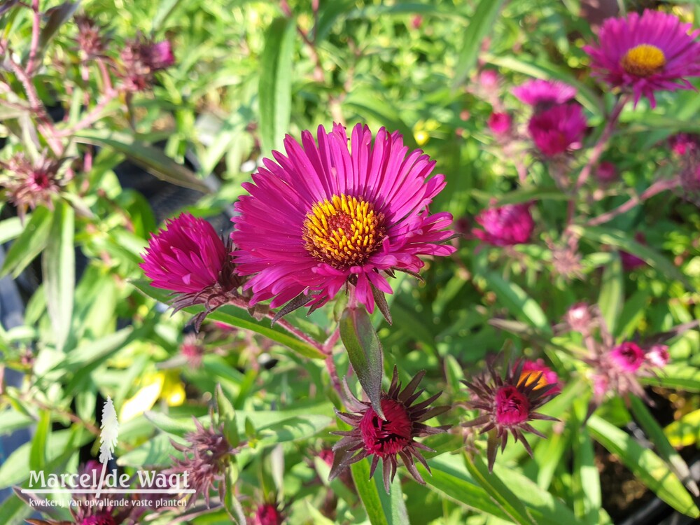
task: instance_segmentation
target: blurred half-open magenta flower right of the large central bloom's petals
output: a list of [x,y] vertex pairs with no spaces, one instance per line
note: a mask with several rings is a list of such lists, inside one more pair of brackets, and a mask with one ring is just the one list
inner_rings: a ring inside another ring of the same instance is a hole
[[472,233],[493,246],[526,243],[535,229],[528,204],[506,204],[499,208],[485,209],[475,220],[484,229],[475,228]]

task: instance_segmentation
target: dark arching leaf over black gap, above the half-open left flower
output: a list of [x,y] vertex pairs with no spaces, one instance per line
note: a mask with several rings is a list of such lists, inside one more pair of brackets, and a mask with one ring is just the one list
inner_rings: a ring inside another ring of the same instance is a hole
[[108,146],[161,181],[202,193],[211,193],[209,186],[197,179],[189,169],[169,158],[160,149],[140,141],[131,134],[111,130],[80,130],[73,137],[80,144]]

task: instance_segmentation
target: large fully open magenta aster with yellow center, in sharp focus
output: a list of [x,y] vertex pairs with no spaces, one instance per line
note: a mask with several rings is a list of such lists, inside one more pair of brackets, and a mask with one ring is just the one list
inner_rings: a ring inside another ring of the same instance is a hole
[[[251,304],[272,307],[295,297],[316,309],[350,286],[367,310],[374,293],[391,293],[385,275],[418,272],[418,255],[449,255],[451,215],[431,215],[428,204],[444,188],[444,176],[428,179],[435,162],[420,150],[408,153],[398,132],[318,127],[317,142],[284,141],[286,156],[273,160],[244,183],[251,195],[236,203],[232,238],[241,275],[255,274]],[[407,155],[408,153],[408,155]],[[308,298],[308,300],[306,300]]]

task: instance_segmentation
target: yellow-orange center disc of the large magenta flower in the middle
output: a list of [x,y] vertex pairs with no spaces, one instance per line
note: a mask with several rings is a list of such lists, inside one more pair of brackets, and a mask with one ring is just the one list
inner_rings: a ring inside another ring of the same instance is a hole
[[384,239],[384,214],[362,197],[333,195],[317,202],[304,220],[307,251],[336,269],[363,265]]

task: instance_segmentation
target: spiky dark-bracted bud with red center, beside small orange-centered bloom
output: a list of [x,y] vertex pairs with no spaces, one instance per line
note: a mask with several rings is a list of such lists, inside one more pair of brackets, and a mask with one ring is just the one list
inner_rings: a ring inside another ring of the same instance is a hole
[[[557,384],[542,386],[542,372],[535,377],[523,379],[524,361],[519,360],[514,366],[505,367],[505,377],[502,377],[493,367],[493,363],[486,365],[488,372],[477,376],[472,382],[462,381],[472,393],[472,400],[468,407],[480,410],[482,414],[472,421],[463,423],[463,426],[483,426],[481,433],[493,430],[495,434],[489,437],[486,456],[489,460],[489,472],[493,471],[493,463],[496,462],[496,452],[500,440],[500,450],[505,449],[508,442],[508,433],[513,439],[520,441],[528,454],[532,456],[530,444],[525,439],[523,432],[531,432],[539,437],[547,437],[535,430],[528,421],[544,419],[547,421],[559,421],[545,414],[535,412],[536,409],[551,400],[557,394],[553,391]],[[528,377],[527,375],[525,377]]]

